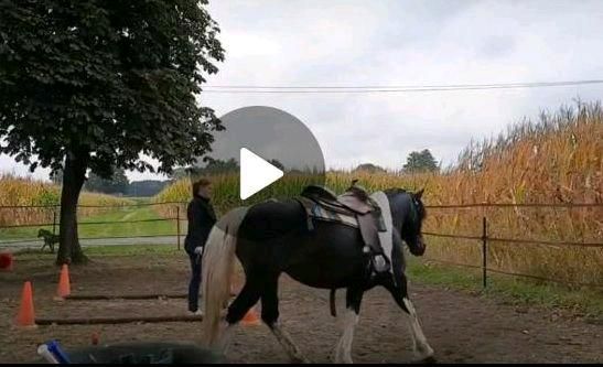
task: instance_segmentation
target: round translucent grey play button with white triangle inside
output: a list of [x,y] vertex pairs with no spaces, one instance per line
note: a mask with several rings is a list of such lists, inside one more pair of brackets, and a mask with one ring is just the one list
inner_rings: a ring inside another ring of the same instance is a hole
[[324,158],[311,128],[325,121],[304,123],[267,106],[237,108],[219,119],[224,130],[211,132],[211,151],[196,158],[190,176],[213,182],[218,216],[238,206],[289,201],[306,185],[324,185]]

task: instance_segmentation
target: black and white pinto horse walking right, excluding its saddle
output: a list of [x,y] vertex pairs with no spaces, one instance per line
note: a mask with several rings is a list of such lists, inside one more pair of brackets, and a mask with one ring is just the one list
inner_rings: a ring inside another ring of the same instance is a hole
[[[335,363],[353,361],[352,341],[363,294],[377,285],[387,289],[406,312],[417,357],[433,361],[433,349],[408,296],[402,248],[403,241],[414,256],[422,256],[426,250],[421,235],[426,217],[422,192],[390,188],[372,195],[389,206],[389,211],[381,213],[389,226],[387,237],[391,236],[388,253],[391,272],[378,277],[367,271],[368,259],[358,228],[313,220],[310,230],[306,213],[295,199],[267,201],[228,212],[212,229],[203,255],[203,324],[207,346],[226,352],[234,327],[261,300],[261,320],[292,361],[308,361],[278,322],[278,280],[284,272],[312,288],[332,292],[346,289],[344,332],[335,349]],[[246,279],[241,291],[227,305],[235,257]],[[220,326],[223,320],[225,327]]]

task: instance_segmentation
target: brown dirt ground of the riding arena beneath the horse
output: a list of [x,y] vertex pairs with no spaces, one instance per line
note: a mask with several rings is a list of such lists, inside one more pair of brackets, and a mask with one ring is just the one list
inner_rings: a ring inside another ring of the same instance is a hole
[[[183,255],[184,257],[184,255]],[[74,294],[185,292],[185,258],[103,258],[84,269],[72,269]],[[50,338],[66,348],[89,345],[93,333],[101,343],[127,341],[198,342],[196,323],[127,324],[106,326],[41,326],[14,330],[22,281],[34,283],[39,317],[184,314],[185,300],[55,302],[56,269],[36,261],[18,262],[12,273],[0,273],[0,363],[35,359],[35,347]],[[281,323],[313,361],[332,361],[340,336],[329,314],[327,292],[281,279]],[[542,310],[517,310],[492,300],[420,284],[411,298],[428,341],[441,363],[603,363],[603,325],[561,317]],[[338,293],[340,302],[344,293]],[[340,305],[341,310],[341,305]],[[410,337],[402,312],[380,289],[363,303],[355,333],[356,363],[408,363]],[[268,328],[239,327],[228,358],[234,363],[287,363]]]

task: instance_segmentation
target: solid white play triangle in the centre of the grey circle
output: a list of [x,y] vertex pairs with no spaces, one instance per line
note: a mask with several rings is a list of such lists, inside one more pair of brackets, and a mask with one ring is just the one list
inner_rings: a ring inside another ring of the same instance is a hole
[[283,176],[283,172],[246,148],[240,149],[240,199],[244,201]]

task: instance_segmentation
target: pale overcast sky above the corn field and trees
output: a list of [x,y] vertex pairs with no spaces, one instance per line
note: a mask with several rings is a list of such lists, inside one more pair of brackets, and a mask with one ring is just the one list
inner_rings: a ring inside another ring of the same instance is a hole
[[[214,0],[226,61],[212,85],[362,86],[603,78],[603,1]],[[603,85],[408,94],[204,94],[218,116],[283,109],[309,126],[326,165],[400,168],[412,150],[453,162],[471,138]],[[354,142],[354,143],[351,143]],[[0,170],[26,169],[8,156]],[[36,177],[46,179],[39,170]],[[157,177],[129,173],[130,180]]]

